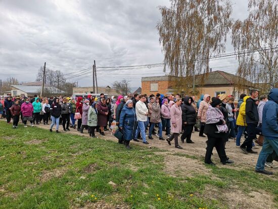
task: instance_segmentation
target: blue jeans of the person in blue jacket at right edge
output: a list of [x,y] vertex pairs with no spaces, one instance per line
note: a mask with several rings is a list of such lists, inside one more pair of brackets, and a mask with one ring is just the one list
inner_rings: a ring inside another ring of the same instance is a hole
[[266,161],[266,158],[270,154],[272,154],[273,150],[275,150],[275,152],[278,153],[278,138],[277,137],[269,138],[264,136],[262,150],[259,154],[256,168],[255,168],[256,171],[264,170],[264,163]]

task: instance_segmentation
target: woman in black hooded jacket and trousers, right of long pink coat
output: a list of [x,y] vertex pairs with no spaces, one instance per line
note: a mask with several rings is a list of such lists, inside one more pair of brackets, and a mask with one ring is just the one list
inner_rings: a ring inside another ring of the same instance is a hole
[[193,98],[186,96],[183,99],[184,104],[181,105],[182,110],[182,124],[184,126],[183,134],[180,139],[181,142],[184,143],[184,139],[186,139],[187,143],[194,143],[191,140],[192,131],[194,125],[196,124],[196,110],[192,105]]

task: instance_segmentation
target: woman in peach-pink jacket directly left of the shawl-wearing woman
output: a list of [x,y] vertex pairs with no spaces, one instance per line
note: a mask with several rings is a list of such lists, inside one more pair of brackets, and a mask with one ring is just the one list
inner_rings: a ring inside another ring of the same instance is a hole
[[204,95],[204,100],[200,103],[198,109],[198,119],[201,120],[201,128],[199,132],[199,137],[206,137],[204,135],[205,124],[207,120],[207,111],[209,107],[210,96],[208,94]]

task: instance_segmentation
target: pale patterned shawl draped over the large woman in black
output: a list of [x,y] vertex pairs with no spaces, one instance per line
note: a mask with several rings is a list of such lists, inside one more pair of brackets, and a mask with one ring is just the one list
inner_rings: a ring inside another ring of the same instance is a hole
[[[217,107],[209,106],[208,111],[207,111],[206,124],[217,123],[220,120],[224,120],[224,116],[223,116],[222,112],[220,111],[220,109],[218,109]],[[218,130],[218,133],[219,132],[226,133],[228,131],[228,127],[226,124],[216,125],[216,127]]]

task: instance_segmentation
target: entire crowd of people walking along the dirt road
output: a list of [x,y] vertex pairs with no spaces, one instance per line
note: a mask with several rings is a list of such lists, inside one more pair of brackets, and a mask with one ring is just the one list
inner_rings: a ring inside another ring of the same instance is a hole
[[62,125],[65,132],[77,128],[80,133],[87,130],[90,137],[96,137],[95,131],[105,136],[115,123],[123,135],[118,142],[127,149],[131,140],[149,144],[148,140],[154,140],[154,136],[170,146],[174,140],[175,148],[182,149],[179,142],[194,143],[192,133],[199,132],[200,137],[207,138],[205,163],[210,165],[215,165],[211,160],[214,147],[222,164],[234,163],[225,152],[229,139],[245,154],[257,153],[253,150],[255,142],[263,146],[255,168],[262,174],[272,174],[264,168],[274,168],[272,161],[278,153],[278,89],[259,99],[258,91],[251,90],[250,96],[241,94],[236,104],[235,97],[226,94],[201,95],[199,101],[195,101],[195,96],[180,98],[179,94],[159,93],[107,99],[104,94],[100,98],[91,95],[87,98],[7,97],[0,103],[0,118],[3,115],[8,123],[13,120],[14,129],[21,118],[25,128],[27,121],[31,127],[43,121],[44,125],[50,125],[50,132],[56,124],[56,133]]

